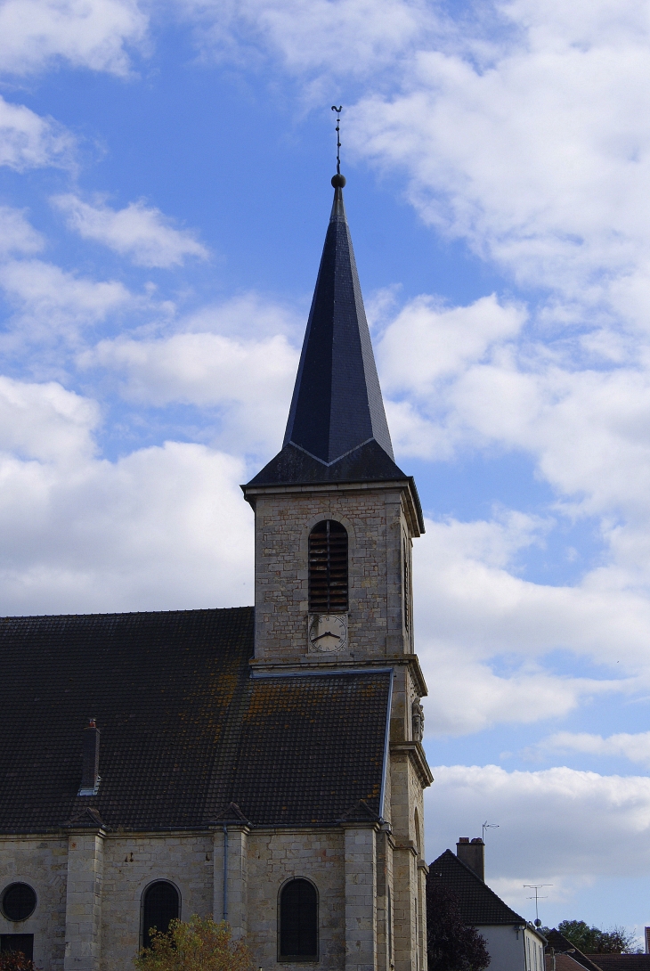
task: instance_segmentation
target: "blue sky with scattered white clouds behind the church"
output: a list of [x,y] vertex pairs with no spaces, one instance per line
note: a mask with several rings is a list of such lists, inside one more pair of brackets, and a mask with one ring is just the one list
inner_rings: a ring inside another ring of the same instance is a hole
[[0,610],[251,602],[346,207],[416,549],[429,858],[650,923],[650,5],[5,0]]

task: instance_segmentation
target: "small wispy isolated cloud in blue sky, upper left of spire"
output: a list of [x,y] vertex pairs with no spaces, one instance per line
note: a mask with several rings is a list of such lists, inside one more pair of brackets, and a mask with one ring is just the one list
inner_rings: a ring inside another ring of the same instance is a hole
[[91,206],[72,193],[54,196],[52,201],[83,239],[130,256],[138,266],[178,266],[185,256],[208,256],[190,232],[175,229],[160,210],[147,209],[144,202],[131,202],[115,212],[101,203]]

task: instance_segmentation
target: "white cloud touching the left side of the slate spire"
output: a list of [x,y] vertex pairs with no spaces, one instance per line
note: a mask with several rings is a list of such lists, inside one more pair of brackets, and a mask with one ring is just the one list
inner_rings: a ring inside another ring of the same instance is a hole
[[82,367],[125,375],[124,397],[218,407],[221,438],[234,450],[279,448],[298,352],[285,337],[237,340],[179,333],[153,341],[102,341],[80,357]]

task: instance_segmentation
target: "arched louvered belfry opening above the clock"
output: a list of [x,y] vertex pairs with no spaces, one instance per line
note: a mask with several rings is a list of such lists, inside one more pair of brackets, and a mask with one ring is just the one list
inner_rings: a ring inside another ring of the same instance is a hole
[[323,519],[309,533],[309,613],[346,610],[347,530],[336,519]]

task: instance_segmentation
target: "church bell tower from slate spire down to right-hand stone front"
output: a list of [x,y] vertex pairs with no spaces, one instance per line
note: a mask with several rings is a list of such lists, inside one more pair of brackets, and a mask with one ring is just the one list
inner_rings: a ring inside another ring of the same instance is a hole
[[332,184],[283,446],[243,486],[255,512],[251,666],[267,676],[393,672],[379,819],[390,845],[383,875],[389,929],[375,968],[426,971],[419,820],[423,789],[433,780],[421,745],[427,689],[414,652],[410,580],[412,542],[424,521],[413,479],[393,455],[343,206],[345,179],[336,175]]

